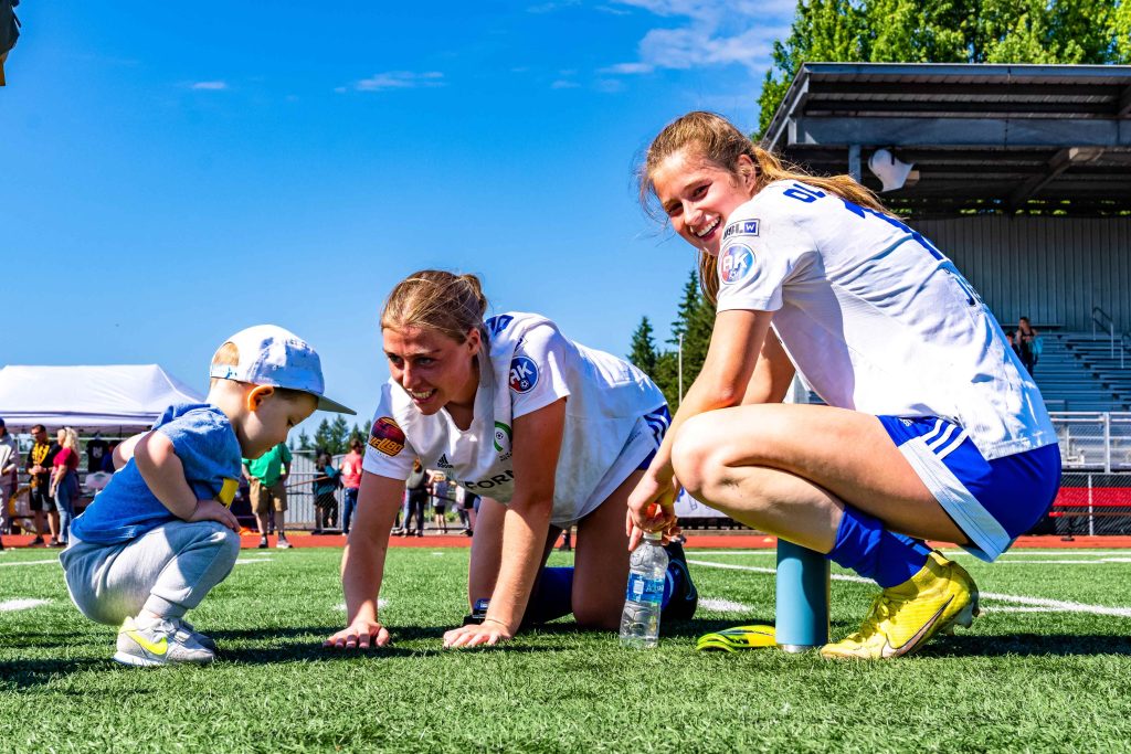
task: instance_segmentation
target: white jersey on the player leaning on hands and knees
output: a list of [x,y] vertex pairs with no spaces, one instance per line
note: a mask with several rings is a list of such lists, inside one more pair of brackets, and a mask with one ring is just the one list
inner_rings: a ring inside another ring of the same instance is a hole
[[364,468],[406,479],[418,457],[461,487],[508,503],[515,494],[511,443],[523,442],[513,436],[515,419],[566,398],[551,520],[572,523],[659,447],[667,426],[664,396],[631,364],[568,340],[543,317],[511,312],[486,324],[490,355],[478,356],[470,426],[460,430],[447,410],[424,416],[389,380],[381,388]]

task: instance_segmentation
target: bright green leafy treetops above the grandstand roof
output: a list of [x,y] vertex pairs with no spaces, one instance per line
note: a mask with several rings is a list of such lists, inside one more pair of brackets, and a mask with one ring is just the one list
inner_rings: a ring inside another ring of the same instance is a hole
[[772,60],[762,133],[804,62],[1131,62],[1131,0],[798,0]]

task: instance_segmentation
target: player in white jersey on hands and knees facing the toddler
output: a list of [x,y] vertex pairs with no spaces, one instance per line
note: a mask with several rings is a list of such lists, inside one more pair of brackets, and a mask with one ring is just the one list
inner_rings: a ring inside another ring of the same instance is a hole
[[[631,364],[569,340],[544,317],[484,321],[486,309],[473,275],[422,270],[389,294],[381,332],[391,378],[342,561],[348,625],[328,647],[389,641],[378,593],[417,458],[483,497],[468,577],[473,615],[444,634],[444,647],[497,644],[569,613],[585,627],[618,626],[628,495],[667,428],[664,397]],[[545,567],[572,525],[575,566]],[[677,544],[668,552],[666,615],[690,617],[698,597],[687,562]]]

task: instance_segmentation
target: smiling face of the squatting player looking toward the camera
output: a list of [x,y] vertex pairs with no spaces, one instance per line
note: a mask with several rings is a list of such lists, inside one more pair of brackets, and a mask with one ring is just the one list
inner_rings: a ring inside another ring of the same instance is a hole
[[651,184],[675,232],[696,249],[718,255],[723,226],[741,205],[754,196],[753,162],[739,158],[732,173],[698,154],[681,149],[651,173]]

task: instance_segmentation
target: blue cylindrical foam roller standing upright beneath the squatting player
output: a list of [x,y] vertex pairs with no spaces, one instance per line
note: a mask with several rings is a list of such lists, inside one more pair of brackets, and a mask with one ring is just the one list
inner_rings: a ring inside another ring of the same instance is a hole
[[778,539],[777,644],[802,652],[829,642],[829,560]]

